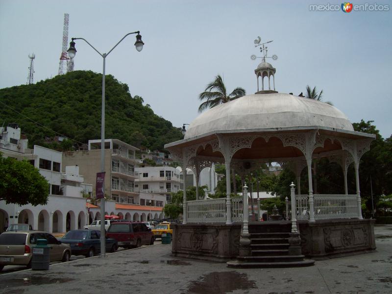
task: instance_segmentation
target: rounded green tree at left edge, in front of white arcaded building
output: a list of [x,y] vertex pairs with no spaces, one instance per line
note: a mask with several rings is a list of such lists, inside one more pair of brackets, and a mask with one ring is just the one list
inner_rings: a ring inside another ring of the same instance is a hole
[[28,161],[0,154],[0,200],[33,206],[48,202],[49,183]]

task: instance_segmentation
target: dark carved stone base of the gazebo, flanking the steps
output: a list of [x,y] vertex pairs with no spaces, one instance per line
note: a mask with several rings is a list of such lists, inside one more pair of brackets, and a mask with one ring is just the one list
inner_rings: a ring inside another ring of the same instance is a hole
[[[276,224],[274,221],[250,222],[249,231],[256,231],[258,226],[263,226],[264,230],[272,232]],[[281,221],[280,224],[290,232],[290,221]],[[298,221],[298,225],[301,254],[312,259],[365,253],[376,248],[374,220]],[[240,235],[241,223],[174,224],[172,255],[217,262],[230,261],[240,255]],[[248,252],[251,256],[250,249]]]

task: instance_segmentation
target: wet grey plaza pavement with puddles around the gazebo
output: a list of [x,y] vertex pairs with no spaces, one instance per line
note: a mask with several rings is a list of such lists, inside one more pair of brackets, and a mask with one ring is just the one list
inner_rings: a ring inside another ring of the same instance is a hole
[[392,293],[392,225],[375,227],[377,249],[285,269],[229,269],[170,256],[157,244],[0,275],[0,293],[385,294]]

